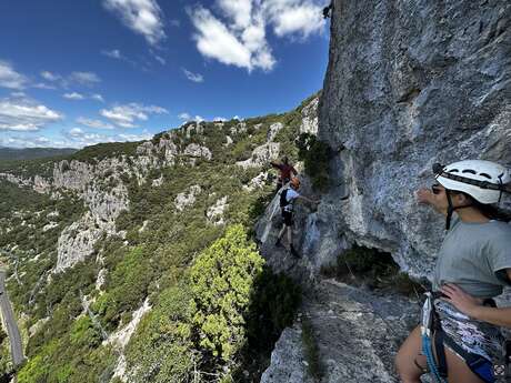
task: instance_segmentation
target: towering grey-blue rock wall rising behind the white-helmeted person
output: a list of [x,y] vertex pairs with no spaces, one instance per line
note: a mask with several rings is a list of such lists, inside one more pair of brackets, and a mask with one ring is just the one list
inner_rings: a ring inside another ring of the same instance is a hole
[[505,0],[334,2],[319,137],[339,152],[318,219],[338,236],[431,273],[444,223],[414,199],[431,165],[511,165],[510,12]]

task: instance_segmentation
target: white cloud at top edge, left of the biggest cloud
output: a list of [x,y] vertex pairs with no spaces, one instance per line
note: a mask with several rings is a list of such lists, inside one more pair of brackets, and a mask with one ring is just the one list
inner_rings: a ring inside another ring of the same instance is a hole
[[120,17],[124,26],[142,34],[151,46],[167,38],[163,12],[156,0],[103,0],[103,6]]

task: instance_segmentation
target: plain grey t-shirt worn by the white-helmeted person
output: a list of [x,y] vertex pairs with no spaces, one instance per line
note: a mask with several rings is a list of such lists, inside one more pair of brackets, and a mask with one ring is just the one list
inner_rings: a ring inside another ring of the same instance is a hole
[[511,224],[455,218],[438,254],[433,290],[454,283],[473,296],[493,298],[509,285],[504,269],[511,269]]

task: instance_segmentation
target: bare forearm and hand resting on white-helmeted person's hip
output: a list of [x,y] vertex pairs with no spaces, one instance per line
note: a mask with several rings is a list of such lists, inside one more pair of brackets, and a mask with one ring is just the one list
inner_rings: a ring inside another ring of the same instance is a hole
[[[511,269],[507,269],[507,273],[511,279]],[[447,295],[443,300],[452,303],[458,310],[470,318],[511,329],[511,308],[484,306],[481,304],[481,300],[465,293],[452,283],[443,285],[440,290]]]

